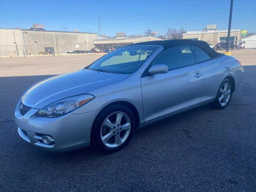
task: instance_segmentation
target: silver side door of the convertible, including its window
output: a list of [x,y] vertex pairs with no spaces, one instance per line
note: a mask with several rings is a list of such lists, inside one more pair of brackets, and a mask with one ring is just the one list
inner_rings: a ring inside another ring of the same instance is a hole
[[162,51],[151,65],[166,64],[165,74],[141,78],[144,120],[150,121],[200,103],[204,79],[190,46]]

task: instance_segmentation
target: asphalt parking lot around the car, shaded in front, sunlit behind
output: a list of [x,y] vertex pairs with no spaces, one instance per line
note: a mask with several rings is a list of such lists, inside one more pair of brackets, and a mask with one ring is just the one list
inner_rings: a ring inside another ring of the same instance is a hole
[[209,105],[134,133],[114,154],[51,153],[18,136],[14,108],[32,84],[100,56],[0,58],[0,191],[256,191],[256,50],[236,50],[244,85]]

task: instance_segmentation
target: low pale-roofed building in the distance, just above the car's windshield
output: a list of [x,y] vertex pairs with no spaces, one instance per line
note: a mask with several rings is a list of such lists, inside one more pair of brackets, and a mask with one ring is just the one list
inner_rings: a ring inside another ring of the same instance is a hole
[[158,41],[160,38],[154,36],[146,36],[146,37],[120,37],[120,38],[110,38],[110,39],[101,39],[94,40],[93,44],[98,50],[108,50],[112,49],[113,46],[125,46],[129,44],[145,42],[145,41]]

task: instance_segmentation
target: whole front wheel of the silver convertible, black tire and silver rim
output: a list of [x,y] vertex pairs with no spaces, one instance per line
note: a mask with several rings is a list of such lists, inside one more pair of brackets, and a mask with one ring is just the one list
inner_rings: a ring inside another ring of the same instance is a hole
[[128,144],[135,118],[130,108],[114,105],[103,109],[92,126],[92,144],[104,153],[121,150]]

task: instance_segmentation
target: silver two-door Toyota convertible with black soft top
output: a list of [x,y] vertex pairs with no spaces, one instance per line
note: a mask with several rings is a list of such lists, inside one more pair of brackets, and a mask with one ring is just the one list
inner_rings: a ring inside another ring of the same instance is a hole
[[111,153],[137,128],[208,103],[225,108],[243,76],[238,60],[203,41],[132,44],[34,84],[18,101],[15,122],[24,140],[45,150],[93,144]]

